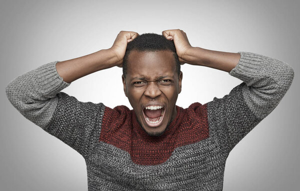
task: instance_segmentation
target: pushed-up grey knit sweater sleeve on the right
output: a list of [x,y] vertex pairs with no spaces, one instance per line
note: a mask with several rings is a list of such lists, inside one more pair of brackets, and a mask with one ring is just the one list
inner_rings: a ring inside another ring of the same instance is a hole
[[278,105],[294,76],[292,67],[283,61],[239,53],[238,64],[229,74],[243,82],[207,103],[209,125],[227,153]]

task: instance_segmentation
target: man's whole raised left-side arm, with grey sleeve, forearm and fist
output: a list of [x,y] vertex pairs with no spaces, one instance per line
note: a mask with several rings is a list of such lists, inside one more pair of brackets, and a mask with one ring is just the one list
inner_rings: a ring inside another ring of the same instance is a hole
[[95,135],[99,135],[100,127],[95,124],[100,123],[104,105],[78,101],[60,90],[79,77],[120,65],[127,42],[136,35],[121,31],[109,49],[28,71],[6,85],[6,96],[24,117],[85,157],[98,138]]

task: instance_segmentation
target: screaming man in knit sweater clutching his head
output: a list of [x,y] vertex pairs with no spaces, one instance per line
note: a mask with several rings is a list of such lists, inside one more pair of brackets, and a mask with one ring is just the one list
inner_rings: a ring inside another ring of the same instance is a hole
[[[222,98],[182,108],[175,103],[183,63],[220,69],[243,82]],[[60,92],[113,66],[123,67],[133,110]],[[26,118],[84,157],[88,190],[221,190],[230,150],[276,107],[293,75],[287,63],[267,56],[192,47],[180,29],[120,31],[110,48],[41,65],[5,90]]]

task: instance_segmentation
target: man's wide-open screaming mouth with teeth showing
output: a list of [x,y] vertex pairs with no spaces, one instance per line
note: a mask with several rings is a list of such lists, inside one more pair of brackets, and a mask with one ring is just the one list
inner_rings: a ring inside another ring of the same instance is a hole
[[152,127],[159,126],[165,113],[164,110],[164,107],[160,105],[146,106],[142,113],[147,125]]

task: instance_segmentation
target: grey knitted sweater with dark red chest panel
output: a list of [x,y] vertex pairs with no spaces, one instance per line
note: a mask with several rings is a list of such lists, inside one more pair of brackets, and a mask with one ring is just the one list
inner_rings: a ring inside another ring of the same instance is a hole
[[88,190],[222,190],[230,150],[279,103],[294,71],[267,56],[239,52],[229,72],[241,79],[229,94],[188,108],[161,136],[146,134],[124,105],[81,102],[60,90],[70,85],[58,61],[26,72],[6,86],[27,119],[85,159]]

